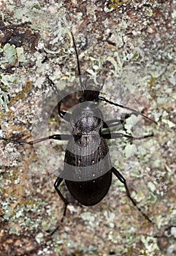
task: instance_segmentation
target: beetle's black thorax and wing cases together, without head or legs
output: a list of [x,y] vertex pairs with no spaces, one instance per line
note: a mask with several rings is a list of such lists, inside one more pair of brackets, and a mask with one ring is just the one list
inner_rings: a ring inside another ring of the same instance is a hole
[[83,102],[72,112],[73,137],[66,146],[64,177],[72,196],[84,206],[99,203],[110,189],[109,149],[102,138],[104,124],[97,102]]

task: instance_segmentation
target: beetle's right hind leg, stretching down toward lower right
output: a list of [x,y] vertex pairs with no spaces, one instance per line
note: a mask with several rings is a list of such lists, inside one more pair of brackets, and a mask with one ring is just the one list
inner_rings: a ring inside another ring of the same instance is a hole
[[141,210],[141,208],[139,208],[139,206],[137,206],[137,203],[131,197],[130,192],[129,192],[129,188],[127,187],[127,184],[126,184],[126,179],[121,175],[121,173],[118,170],[115,169],[115,167],[112,167],[112,173],[114,173],[115,176],[119,179],[119,181],[121,183],[123,183],[123,185],[124,185],[124,187],[126,189],[126,195],[129,197],[129,199],[131,200],[133,205],[137,208],[137,210],[145,217],[145,219],[148,219],[148,221],[150,223],[154,224],[154,222],[149,219],[149,217]]

